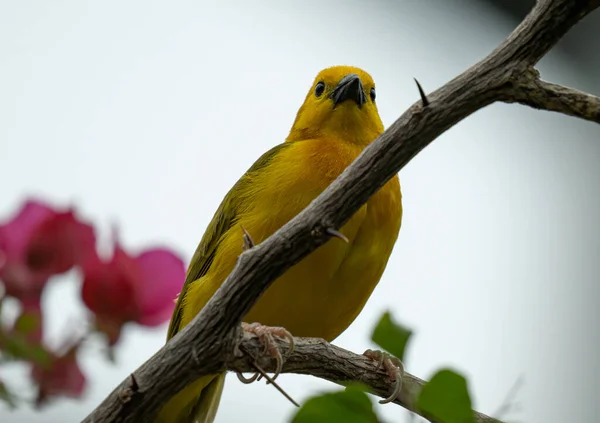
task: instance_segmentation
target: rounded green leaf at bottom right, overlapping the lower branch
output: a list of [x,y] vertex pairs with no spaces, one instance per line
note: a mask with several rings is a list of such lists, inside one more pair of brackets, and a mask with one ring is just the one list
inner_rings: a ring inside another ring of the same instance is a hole
[[424,416],[440,423],[473,423],[471,397],[466,379],[442,369],[423,387],[417,408]]

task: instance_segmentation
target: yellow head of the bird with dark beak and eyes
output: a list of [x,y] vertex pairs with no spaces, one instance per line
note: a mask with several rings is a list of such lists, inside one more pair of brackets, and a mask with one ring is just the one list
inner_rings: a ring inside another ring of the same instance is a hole
[[334,66],[319,72],[287,141],[332,137],[367,145],[383,132],[375,83],[362,69]]

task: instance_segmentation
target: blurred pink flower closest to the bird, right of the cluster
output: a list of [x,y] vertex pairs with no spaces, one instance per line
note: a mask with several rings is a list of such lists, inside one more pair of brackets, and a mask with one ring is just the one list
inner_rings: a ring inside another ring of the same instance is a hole
[[158,326],[169,320],[185,279],[183,261],[173,252],[153,249],[132,257],[118,244],[110,260],[96,257],[83,270],[83,302],[110,345],[127,322]]

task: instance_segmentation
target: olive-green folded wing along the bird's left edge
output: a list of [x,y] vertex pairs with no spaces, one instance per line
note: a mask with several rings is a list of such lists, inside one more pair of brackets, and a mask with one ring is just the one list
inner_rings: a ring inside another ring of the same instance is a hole
[[[217,209],[210,224],[208,225],[208,228],[206,229],[198,248],[196,248],[196,252],[194,253],[192,261],[188,267],[185,283],[183,284],[183,288],[177,297],[177,305],[175,306],[171,323],[169,324],[167,339],[171,339],[181,329],[180,325],[183,317],[182,301],[185,298],[187,289],[189,288],[190,284],[196,282],[202,276],[206,275],[215,258],[215,254],[217,253],[219,243],[221,242],[223,235],[235,224],[238,211],[240,210],[240,206],[244,201],[243,196],[240,194],[246,192],[245,186],[251,183],[251,178],[249,176],[254,172],[260,172],[262,169],[268,166],[273,158],[277,156],[277,154],[279,154],[279,152],[284,148],[290,146],[290,144],[291,143],[279,144],[264,153],[237,181],[233,188],[229,190],[221,202],[221,205]],[[242,242],[241,237],[240,242]]]

